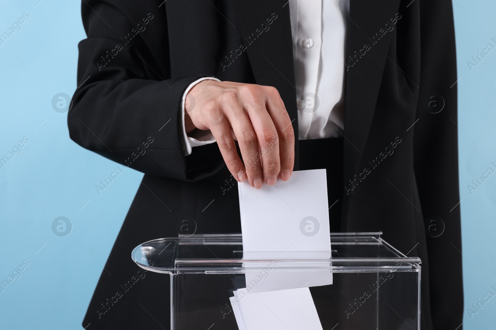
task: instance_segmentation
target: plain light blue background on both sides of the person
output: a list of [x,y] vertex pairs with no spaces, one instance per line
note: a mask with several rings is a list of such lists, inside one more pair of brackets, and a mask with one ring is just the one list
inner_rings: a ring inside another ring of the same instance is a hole
[[[102,265],[142,174],[69,139],[67,114],[54,111],[51,101],[61,92],[72,95],[77,87],[77,43],[85,38],[80,1],[37,2],[0,2],[0,32],[22,13],[29,14],[21,30],[0,45],[0,156],[29,138],[22,152],[0,169],[0,280],[23,260],[29,262],[21,278],[0,293],[0,328],[82,329]],[[462,76],[453,88],[459,91],[462,202],[457,207],[463,228],[464,329],[494,329],[496,298],[473,318],[467,309],[489,290],[495,292],[496,175],[472,195],[467,185],[488,167],[495,169],[496,50],[472,71],[467,61],[489,43],[496,46],[491,40],[496,39],[496,2],[454,0],[453,7]],[[124,173],[99,195],[95,185],[116,167]],[[69,236],[52,232],[59,216],[72,222]]]

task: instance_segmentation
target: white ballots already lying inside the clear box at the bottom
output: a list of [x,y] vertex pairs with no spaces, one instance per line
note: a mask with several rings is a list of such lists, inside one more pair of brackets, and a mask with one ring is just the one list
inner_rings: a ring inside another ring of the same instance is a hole
[[322,330],[308,287],[234,294],[230,300],[240,330]]

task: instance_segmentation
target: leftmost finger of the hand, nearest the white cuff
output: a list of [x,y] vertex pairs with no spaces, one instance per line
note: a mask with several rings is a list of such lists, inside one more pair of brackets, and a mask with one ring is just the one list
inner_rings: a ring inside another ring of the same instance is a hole
[[224,162],[237,181],[245,182],[248,179],[247,173],[236,151],[236,143],[231,134],[229,122],[222,111],[220,111],[220,107],[213,104],[210,106],[215,107],[215,110],[208,112],[209,116],[206,121],[208,121],[210,131],[217,141]]

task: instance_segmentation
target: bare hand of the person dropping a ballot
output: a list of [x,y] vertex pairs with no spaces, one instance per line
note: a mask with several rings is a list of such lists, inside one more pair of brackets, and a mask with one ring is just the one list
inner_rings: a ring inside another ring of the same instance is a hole
[[191,96],[195,102],[186,104],[186,133],[195,128],[210,130],[236,180],[248,179],[251,186],[260,189],[263,182],[272,186],[277,178],[289,179],[295,159],[295,134],[274,87],[203,81],[193,86],[186,98]]

